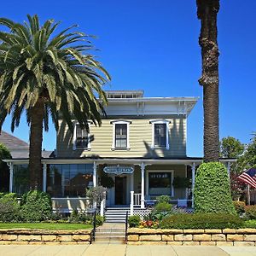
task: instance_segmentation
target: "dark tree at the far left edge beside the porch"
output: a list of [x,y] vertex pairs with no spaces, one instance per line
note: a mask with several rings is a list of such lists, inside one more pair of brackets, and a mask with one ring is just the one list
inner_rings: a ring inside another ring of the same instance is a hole
[[9,190],[9,167],[3,162],[3,159],[10,159],[9,149],[0,143],[0,189]]

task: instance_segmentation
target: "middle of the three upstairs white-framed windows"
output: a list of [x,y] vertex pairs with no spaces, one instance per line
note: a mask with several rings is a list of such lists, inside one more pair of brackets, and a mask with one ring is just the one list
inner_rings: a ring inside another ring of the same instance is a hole
[[112,149],[129,149],[129,131],[131,121],[116,120],[112,121],[111,124],[113,124]]

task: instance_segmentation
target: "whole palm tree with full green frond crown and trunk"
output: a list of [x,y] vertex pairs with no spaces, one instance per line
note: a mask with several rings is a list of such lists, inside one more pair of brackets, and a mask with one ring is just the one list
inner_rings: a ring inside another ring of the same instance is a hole
[[89,54],[93,49],[89,36],[71,32],[75,26],[55,34],[59,22],[47,20],[40,26],[37,15],[27,18],[24,24],[0,19],[0,25],[8,29],[0,32],[0,128],[11,113],[14,131],[21,113],[26,112],[30,188],[41,189],[43,126],[48,131],[49,116],[55,129],[59,117],[71,131],[73,119],[81,128],[89,129],[88,119],[101,125],[102,105],[107,102],[102,85],[110,78]]

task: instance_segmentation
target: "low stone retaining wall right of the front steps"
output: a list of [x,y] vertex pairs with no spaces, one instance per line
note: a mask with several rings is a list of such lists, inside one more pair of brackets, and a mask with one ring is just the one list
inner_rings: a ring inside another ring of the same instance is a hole
[[255,246],[256,229],[225,230],[128,230],[128,244]]

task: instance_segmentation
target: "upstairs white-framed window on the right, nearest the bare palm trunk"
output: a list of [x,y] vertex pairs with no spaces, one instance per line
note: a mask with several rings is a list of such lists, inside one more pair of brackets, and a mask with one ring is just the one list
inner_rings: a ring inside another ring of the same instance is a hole
[[168,120],[152,120],[152,143],[151,148],[169,149]]

